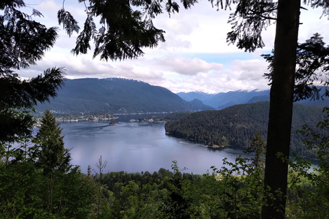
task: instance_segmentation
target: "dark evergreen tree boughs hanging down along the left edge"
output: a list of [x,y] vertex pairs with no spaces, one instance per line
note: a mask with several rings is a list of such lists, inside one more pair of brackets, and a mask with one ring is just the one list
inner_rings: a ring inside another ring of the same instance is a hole
[[63,68],[48,68],[43,75],[21,79],[14,70],[28,68],[41,60],[58,38],[57,27],[34,21],[42,16],[21,12],[22,0],[0,2],[0,144],[31,136],[33,120],[28,112],[37,101],[49,101],[64,83]]

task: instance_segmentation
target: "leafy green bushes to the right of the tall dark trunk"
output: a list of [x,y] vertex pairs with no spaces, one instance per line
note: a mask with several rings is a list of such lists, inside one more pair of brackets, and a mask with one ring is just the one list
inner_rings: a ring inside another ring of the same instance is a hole
[[[324,109],[327,116],[328,110]],[[328,118],[318,123],[317,127],[328,130]],[[321,134],[307,125],[298,132],[306,137],[304,142],[315,149],[319,163],[316,168],[311,169],[311,162],[304,157],[296,157],[294,154],[295,160],[287,160],[291,167],[287,214],[292,215],[289,218],[328,218],[328,135]]]

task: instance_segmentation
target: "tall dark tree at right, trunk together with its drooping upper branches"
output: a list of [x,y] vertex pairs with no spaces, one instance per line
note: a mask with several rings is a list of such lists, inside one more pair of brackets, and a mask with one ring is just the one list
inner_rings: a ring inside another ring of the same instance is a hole
[[[323,8],[323,15],[329,14],[328,1],[302,2],[310,4],[312,8]],[[245,51],[262,48],[262,30],[271,21],[276,21],[265,162],[265,187],[273,193],[273,198],[263,207],[262,218],[284,218],[288,164],[278,155],[289,157],[301,1],[241,0],[226,3],[237,3],[236,11],[230,16],[229,23],[233,30],[228,33],[227,40],[236,42]],[[217,1],[217,7],[219,6],[223,8],[220,0]],[[304,84],[302,88],[306,86]]]

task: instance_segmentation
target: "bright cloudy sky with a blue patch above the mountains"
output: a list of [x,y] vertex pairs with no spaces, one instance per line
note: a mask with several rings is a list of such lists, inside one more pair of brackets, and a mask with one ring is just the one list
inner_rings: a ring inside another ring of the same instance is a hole
[[[145,81],[154,86],[162,86],[172,92],[219,93],[234,90],[269,90],[269,81],[263,77],[267,73],[267,62],[261,54],[271,53],[275,37],[275,24],[263,31],[265,47],[248,53],[226,42],[226,34],[231,30],[227,23],[231,10],[212,8],[209,1],[200,0],[190,10],[180,9],[178,14],[164,13],[154,19],[158,29],[166,31],[166,42],[158,47],[144,48],[144,55],[135,60],[113,62],[93,59],[93,47],[86,55],[73,55],[77,34],[71,38],[58,25],[57,12],[62,8],[62,0],[26,0],[25,11],[39,10],[44,17],[36,18],[47,27],[59,27],[59,38],[45,57],[20,70],[23,78],[36,77],[43,70],[53,66],[63,66],[68,79],[121,77]],[[300,15],[299,42],[304,42],[319,33],[324,42],[329,43],[328,17],[321,17],[321,9],[302,10]],[[84,5],[78,1],[66,0],[65,9],[71,12],[83,27],[86,15]]]

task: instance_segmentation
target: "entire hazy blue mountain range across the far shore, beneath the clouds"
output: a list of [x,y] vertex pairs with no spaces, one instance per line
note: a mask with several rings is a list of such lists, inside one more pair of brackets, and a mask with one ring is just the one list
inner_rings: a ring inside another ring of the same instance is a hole
[[[60,113],[108,112],[132,114],[149,112],[199,112],[221,110],[244,104],[269,101],[269,90],[244,90],[206,94],[204,92],[179,92],[151,86],[143,81],[121,78],[66,79],[58,96],[49,103],[35,107],[39,112],[47,109]],[[329,101],[300,101],[304,105],[329,106]]]

